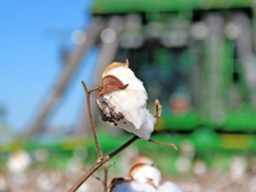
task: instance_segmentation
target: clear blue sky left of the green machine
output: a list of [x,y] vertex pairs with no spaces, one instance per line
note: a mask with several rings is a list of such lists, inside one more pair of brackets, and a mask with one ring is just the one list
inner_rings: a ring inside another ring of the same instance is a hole
[[[12,128],[26,128],[61,71],[61,45],[74,47],[73,30],[87,27],[92,0],[9,0],[0,7],[0,105],[7,109]],[[52,35],[52,32],[59,32]],[[96,48],[84,58],[51,125],[73,125],[96,62]]]

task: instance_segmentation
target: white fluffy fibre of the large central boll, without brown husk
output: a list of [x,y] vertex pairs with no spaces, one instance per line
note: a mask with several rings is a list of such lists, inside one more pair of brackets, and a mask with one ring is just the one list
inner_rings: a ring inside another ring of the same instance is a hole
[[113,90],[101,96],[109,107],[114,107],[116,113],[123,114],[124,119],[116,122],[117,126],[148,140],[156,120],[146,108],[148,95],[143,82],[128,67],[115,67],[106,75],[115,76],[122,84],[128,84],[125,89]]

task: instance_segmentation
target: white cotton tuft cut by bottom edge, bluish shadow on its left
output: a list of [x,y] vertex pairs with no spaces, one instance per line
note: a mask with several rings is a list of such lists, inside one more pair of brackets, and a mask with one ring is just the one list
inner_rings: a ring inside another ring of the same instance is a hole
[[132,181],[114,186],[111,192],[156,192],[156,189],[148,183]]

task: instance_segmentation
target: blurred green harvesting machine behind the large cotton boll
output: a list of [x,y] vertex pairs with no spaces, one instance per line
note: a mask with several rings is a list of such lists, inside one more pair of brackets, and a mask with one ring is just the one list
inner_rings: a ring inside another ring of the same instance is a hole
[[204,152],[255,151],[255,11],[254,0],[96,0],[86,39],[69,54],[27,135],[44,129],[81,57],[99,43],[92,84],[107,64],[128,58],[145,83],[149,108],[156,97],[163,104],[156,130]]

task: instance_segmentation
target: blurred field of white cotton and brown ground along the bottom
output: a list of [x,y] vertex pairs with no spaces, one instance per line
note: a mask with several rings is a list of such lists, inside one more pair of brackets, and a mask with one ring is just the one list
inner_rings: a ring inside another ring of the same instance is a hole
[[[176,166],[177,163],[180,163],[180,158],[178,157],[172,163]],[[157,165],[155,170],[153,168],[152,170],[148,168],[143,170],[144,168],[142,168],[141,171],[140,169],[136,169],[135,172],[132,171],[135,173],[132,174],[135,180],[132,181],[135,182],[134,185],[138,185],[137,182],[147,183],[147,179],[144,178],[152,178],[153,180],[149,184],[151,185],[150,189],[157,190],[157,192],[256,191],[256,159],[254,157],[231,156],[226,167],[221,167],[218,163],[207,166],[203,160],[188,158],[188,160],[182,160],[186,170],[176,167],[175,174],[171,175],[161,161],[163,159],[160,158],[153,162],[150,158],[140,154],[137,148],[132,147],[124,151],[116,160],[116,164],[109,168],[109,182],[114,177],[127,177],[129,169],[135,163],[139,163],[138,165],[146,163],[149,168],[153,165],[152,163],[155,163]],[[20,162],[19,166],[17,166],[17,162]],[[16,151],[10,154],[7,163],[7,170],[0,173],[0,191],[67,191],[84,173],[84,170],[81,169],[84,166],[83,159],[76,154],[67,160],[67,164],[62,169],[57,167],[50,169],[45,163],[38,163],[35,156],[26,151]],[[160,169],[161,173],[157,171],[157,168]],[[99,171],[95,176],[102,177],[103,172]],[[98,192],[102,190],[102,183],[95,177],[90,177],[78,191]]]

